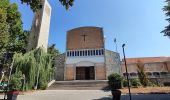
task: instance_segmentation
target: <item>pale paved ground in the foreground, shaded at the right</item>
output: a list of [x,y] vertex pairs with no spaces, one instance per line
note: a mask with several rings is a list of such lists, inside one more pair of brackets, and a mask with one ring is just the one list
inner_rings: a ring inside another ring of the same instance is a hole
[[[3,95],[0,96],[0,99]],[[17,100],[112,100],[110,92],[102,90],[45,90],[19,95]],[[122,95],[121,100],[129,100]],[[169,94],[133,95],[132,100],[170,100]]]

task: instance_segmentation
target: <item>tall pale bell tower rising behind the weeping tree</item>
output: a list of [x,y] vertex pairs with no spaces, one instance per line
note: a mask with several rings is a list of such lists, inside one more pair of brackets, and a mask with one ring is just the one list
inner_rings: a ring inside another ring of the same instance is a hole
[[48,0],[41,0],[40,9],[34,14],[28,51],[42,47],[47,51],[50,30],[51,6]]

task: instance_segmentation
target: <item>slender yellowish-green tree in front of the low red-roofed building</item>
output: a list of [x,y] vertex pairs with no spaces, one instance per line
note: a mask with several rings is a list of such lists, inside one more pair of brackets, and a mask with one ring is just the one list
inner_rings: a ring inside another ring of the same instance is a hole
[[137,67],[138,67],[138,77],[139,77],[140,83],[143,86],[148,86],[149,80],[148,80],[147,74],[145,72],[144,64],[139,61],[137,63]]

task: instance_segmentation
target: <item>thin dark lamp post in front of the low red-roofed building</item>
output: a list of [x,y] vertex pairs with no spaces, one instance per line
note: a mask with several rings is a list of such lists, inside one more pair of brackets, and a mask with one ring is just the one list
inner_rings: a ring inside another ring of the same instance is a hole
[[128,71],[127,71],[127,64],[126,64],[126,56],[125,56],[124,47],[125,47],[125,44],[122,45],[122,49],[123,49],[123,56],[124,56],[125,69],[126,69],[126,78],[127,78],[127,81],[128,81],[129,98],[130,98],[130,100],[132,100],[132,98],[131,98],[131,92],[130,92],[129,75],[128,75]]

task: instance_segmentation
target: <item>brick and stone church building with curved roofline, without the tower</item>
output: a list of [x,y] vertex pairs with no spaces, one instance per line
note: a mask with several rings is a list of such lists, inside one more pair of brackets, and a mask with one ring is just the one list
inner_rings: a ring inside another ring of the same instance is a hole
[[120,56],[105,49],[102,28],[67,32],[66,52],[55,60],[56,80],[106,80],[111,73],[120,73]]

